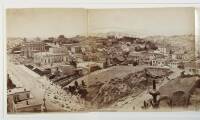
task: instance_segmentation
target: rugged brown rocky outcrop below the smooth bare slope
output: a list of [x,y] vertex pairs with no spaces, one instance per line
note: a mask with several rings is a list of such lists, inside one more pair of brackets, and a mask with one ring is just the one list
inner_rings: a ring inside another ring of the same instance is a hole
[[[168,72],[166,72],[166,75],[168,75]],[[157,78],[152,77],[150,72],[142,70],[130,73],[123,78],[110,79],[110,81],[102,85],[92,102],[99,108],[106,107],[130,94],[140,94],[151,85],[153,79],[159,81],[165,76],[162,74]]]

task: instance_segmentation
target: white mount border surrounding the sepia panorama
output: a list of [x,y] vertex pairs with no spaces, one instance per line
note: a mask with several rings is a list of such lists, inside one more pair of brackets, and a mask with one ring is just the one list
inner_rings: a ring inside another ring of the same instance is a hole
[[[87,120],[99,120],[99,119],[191,119],[191,120],[199,120],[200,114],[198,112],[161,112],[161,113],[153,113],[153,112],[88,112],[88,113],[39,113],[39,114],[21,114],[21,115],[8,115],[7,114],[7,100],[6,100],[6,9],[7,8],[87,8],[87,9],[104,9],[104,8],[162,8],[162,7],[194,7],[195,11],[195,35],[196,35],[196,42],[200,42],[199,34],[200,34],[200,1],[199,0],[170,0],[169,3],[148,3],[147,0],[142,0],[143,2],[131,2],[131,0],[122,1],[117,0],[118,2],[83,2],[83,0],[79,0],[79,2],[67,2],[64,0],[50,0],[50,1],[40,1],[40,0],[28,0],[29,2],[25,2],[26,0],[5,0],[1,2],[1,9],[0,9],[0,23],[3,27],[1,27],[0,37],[1,37],[1,87],[0,91],[0,106],[1,106],[1,118],[5,120],[79,120],[79,119],[87,119]],[[146,1],[146,2],[144,2]],[[164,1],[164,0],[160,0]],[[184,2],[185,1],[185,2]],[[198,3],[199,2],[199,3]],[[198,16],[198,17],[197,17]],[[2,94],[3,93],[3,94]]]

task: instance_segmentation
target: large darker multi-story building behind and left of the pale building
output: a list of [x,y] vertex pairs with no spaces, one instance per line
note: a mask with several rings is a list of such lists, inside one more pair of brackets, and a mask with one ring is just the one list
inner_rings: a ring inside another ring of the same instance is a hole
[[33,54],[37,52],[44,52],[45,51],[45,43],[43,42],[24,42],[22,45],[22,52],[23,56],[27,58],[33,58]]

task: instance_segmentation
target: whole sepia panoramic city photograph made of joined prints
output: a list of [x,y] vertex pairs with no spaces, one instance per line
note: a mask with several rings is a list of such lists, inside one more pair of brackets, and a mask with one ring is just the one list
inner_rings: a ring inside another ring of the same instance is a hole
[[200,111],[193,7],[8,8],[5,17],[8,114]]

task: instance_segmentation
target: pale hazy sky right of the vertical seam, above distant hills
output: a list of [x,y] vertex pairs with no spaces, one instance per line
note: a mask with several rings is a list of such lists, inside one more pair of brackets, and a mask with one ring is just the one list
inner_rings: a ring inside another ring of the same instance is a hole
[[105,9],[89,11],[89,32],[119,31],[139,35],[194,33],[193,8]]

